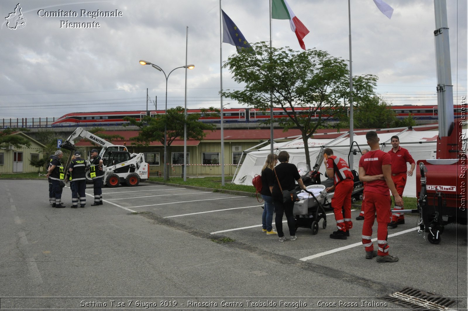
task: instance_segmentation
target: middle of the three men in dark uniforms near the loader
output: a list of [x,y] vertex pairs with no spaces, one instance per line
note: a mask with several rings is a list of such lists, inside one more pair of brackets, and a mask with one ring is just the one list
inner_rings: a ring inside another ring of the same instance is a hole
[[70,163],[69,174],[71,177],[70,188],[72,189],[72,207],[78,207],[78,200],[80,200],[80,207],[85,207],[86,204],[86,160],[81,159],[79,151],[75,151],[74,159]]

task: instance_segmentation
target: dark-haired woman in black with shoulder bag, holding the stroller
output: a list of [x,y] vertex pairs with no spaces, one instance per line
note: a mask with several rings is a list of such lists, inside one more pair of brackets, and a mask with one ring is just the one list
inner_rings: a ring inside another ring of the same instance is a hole
[[[283,233],[283,213],[286,215],[286,219],[289,227],[289,235],[291,236],[291,241],[294,241],[296,237],[296,220],[294,215],[292,215],[292,207],[294,207],[294,202],[287,200],[283,202],[283,193],[278,186],[278,180],[281,184],[283,190],[292,191],[296,187],[294,181],[296,180],[300,185],[301,189],[306,190],[302,179],[300,179],[299,172],[296,165],[289,162],[289,154],[287,151],[281,151],[278,154],[278,161],[280,162],[274,169],[275,184],[273,185],[273,190],[271,191],[273,197],[273,204],[275,206],[276,217],[276,230],[278,231],[279,242],[284,242],[286,240],[285,234]],[[278,179],[277,179],[278,178]]]

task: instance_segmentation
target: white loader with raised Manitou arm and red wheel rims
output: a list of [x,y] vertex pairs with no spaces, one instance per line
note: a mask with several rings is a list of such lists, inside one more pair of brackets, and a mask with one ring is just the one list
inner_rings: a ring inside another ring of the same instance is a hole
[[[78,127],[71,135],[60,145],[60,148],[74,150],[74,141],[82,138],[93,141],[102,147],[99,156],[102,158],[104,172],[103,185],[108,187],[117,187],[119,184],[137,186],[140,181],[146,181],[149,178],[149,165],[145,162],[145,156],[142,153],[130,153],[125,146],[114,145],[109,141],[105,141],[93,133],[85,131]],[[70,158],[71,158],[70,154]],[[66,170],[70,164],[68,159]],[[89,170],[86,172],[87,180]]]

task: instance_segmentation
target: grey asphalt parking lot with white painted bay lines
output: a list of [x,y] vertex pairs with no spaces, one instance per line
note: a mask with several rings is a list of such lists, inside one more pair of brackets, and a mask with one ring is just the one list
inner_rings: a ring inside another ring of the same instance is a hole
[[[103,188],[104,204],[91,207],[92,185],[86,192],[85,208],[69,208],[68,187],[67,208],[52,208],[47,182],[0,180],[0,296],[309,297],[308,309],[299,309],[324,310],[310,309],[318,307],[311,297],[383,302],[375,297],[409,287],[467,308],[467,226],[446,226],[433,245],[417,233],[417,217],[407,216],[389,229],[390,254],[400,260],[377,263],[364,258],[358,211],[347,240],[329,238],[335,226],[328,210],[326,229],[321,221],[318,234],[300,228],[296,241],[279,243],[262,232],[262,203],[253,197],[145,182]],[[234,241],[212,242],[222,238]],[[352,307],[328,310],[372,309]]]

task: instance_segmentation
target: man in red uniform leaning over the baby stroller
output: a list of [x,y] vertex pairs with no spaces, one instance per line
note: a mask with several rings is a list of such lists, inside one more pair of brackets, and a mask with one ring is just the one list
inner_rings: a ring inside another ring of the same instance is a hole
[[346,240],[350,236],[349,230],[352,228],[351,193],[354,188],[354,176],[348,163],[342,158],[334,156],[333,150],[325,148],[323,152],[327,176],[333,176],[334,181],[334,185],[325,189],[325,191],[335,191],[331,199],[331,207],[333,207],[338,230],[333,231],[330,237],[332,239]]

